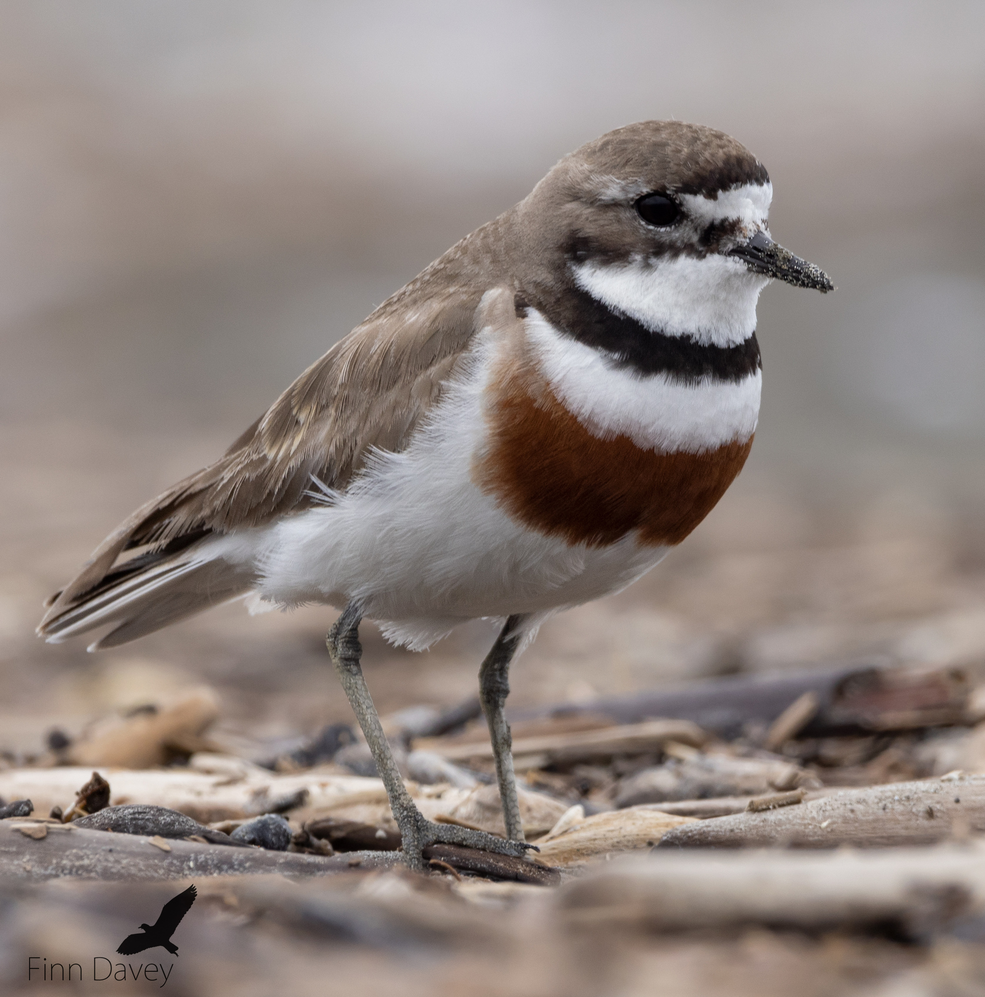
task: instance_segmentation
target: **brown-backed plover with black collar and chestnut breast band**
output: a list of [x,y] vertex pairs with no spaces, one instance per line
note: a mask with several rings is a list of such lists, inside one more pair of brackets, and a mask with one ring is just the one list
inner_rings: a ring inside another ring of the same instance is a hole
[[[770,234],[763,164],[645,121],[565,156],[332,346],[218,460],[143,505],[38,632],[115,647],[208,606],[341,609],[326,643],[400,828],[522,856],[503,706],[552,614],[620,591],[749,455],[771,280],[833,290]],[[363,676],[359,625],[423,650],[499,627],[480,667],[506,836],[427,821]]]

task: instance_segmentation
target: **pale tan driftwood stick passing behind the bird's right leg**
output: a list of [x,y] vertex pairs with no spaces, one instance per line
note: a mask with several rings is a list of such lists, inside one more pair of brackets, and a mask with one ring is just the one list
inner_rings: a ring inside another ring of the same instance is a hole
[[[590,762],[613,755],[659,751],[668,741],[700,747],[707,741],[707,737],[701,728],[686,720],[650,720],[602,730],[514,737],[513,758],[517,768],[539,768],[544,765]],[[414,746],[435,752],[451,762],[493,758],[493,746],[488,739],[465,744],[437,738],[420,739]]]

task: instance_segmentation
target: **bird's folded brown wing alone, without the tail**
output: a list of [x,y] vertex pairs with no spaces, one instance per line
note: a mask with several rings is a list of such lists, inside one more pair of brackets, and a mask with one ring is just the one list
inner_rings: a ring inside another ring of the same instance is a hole
[[170,554],[210,532],[255,526],[344,490],[376,448],[401,451],[439,399],[477,327],[481,291],[436,293],[419,278],[312,364],[214,464],[139,508],[58,594],[39,627],[144,570],[125,550]]

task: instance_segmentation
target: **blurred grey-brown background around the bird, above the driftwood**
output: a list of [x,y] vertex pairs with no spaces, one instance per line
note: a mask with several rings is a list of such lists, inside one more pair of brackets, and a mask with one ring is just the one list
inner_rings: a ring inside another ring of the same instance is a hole
[[[0,2],[0,749],[205,678],[255,736],[347,719],[331,612],[226,606],[100,656],[42,598],[461,236],[610,129],[768,166],[837,293],[760,305],[753,457],[627,593],[544,627],[518,704],[860,655],[985,660],[985,6]],[[384,710],[492,631],[367,633]]]

